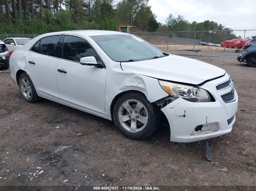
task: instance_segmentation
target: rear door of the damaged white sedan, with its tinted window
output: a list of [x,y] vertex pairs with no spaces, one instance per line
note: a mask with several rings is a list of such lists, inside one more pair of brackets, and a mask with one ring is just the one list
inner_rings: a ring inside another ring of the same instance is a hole
[[39,40],[26,55],[26,69],[33,84],[48,96],[59,99],[56,63],[61,35]]

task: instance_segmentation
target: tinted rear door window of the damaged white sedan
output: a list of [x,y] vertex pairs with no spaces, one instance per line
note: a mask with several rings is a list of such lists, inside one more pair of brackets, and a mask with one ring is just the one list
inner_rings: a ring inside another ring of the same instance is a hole
[[39,45],[40,54],[55,56],[59,36],[42,38]]

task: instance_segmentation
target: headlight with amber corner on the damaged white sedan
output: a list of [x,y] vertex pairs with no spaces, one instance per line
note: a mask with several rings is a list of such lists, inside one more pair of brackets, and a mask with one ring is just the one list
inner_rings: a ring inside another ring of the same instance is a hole
[[211,97],[207,91],[204,89],[176,84],[168,81],[158,80],[161,87],[171,96],[171,97],[181,97],[187,101],[191,102],[211,102]]

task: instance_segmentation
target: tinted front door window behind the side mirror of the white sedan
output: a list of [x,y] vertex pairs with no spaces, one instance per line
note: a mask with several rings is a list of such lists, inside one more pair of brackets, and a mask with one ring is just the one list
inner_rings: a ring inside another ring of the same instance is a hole
[[95,51],[85,40],[73,36],[64,37],[63,59],[80,62],[80,59],[86,56],[94,56],[97,62],[101,62]]

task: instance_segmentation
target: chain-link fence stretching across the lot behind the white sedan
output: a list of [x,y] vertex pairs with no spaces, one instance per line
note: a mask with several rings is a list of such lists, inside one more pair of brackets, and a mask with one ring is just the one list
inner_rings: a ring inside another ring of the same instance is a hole
[[[208,30],[208,31],[154,31],[133,32],[163,51],[198,50],[204,52],[234,52],[240,49],[255,30]],[[0,39],[11,37],[35,38],[39,33],[0,33]]]

